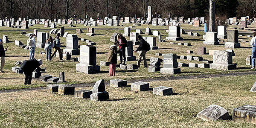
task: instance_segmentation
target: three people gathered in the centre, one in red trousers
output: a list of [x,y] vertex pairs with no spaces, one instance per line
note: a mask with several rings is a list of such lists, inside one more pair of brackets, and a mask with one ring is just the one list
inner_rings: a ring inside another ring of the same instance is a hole
[[[146,52],[150,50],[150,45],[148,42],[146,42],[142,36],[138,35],[137,36],[138,40],[140,41],[140,46],[134,50],[134,52],[138,52],[138,61],[137,61],[137,66],[140,67],[140,62],[141,59],[143,58],[144,61],[144,67],[147,66],[147,60],[146,60]],[[119,47],[119,50],[117,50],[117,47]],[[107,62],[110,63],[109,65],[109,76],[116,76],[116,64],[117,64],[117,54],[119,53],[120,56],[120,63],[125,65],[126,62],[126,55],[125,55],[125,48],[127,47],[127,40],[125,37],[122,36],[121,33],[117,35],[117,41],[109,47],[109,55],[108,55],[108,60]]]

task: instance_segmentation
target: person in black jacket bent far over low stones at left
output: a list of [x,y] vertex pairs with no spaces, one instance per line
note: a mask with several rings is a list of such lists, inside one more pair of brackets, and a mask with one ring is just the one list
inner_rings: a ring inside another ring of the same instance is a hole
[[20,65],[20,68],[23,70],[25,77],[24,85],[31,84],[32,80],[32,74],[37,69],[41,72],[44,72],[46,68],[41,69],[40,63],[35,58],[32,60],[23,61],[23,63]]

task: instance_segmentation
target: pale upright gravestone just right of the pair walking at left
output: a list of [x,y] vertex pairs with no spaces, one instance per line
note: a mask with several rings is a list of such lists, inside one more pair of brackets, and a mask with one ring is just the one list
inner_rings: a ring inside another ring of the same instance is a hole
[[79,55],[78,37],[76,34],[68,34],[66,39],[67,48],[63,49],[63,53],[70,55]]

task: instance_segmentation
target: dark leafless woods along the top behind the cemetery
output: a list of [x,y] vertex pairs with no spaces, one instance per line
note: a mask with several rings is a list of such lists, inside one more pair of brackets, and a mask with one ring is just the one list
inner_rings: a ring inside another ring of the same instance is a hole
[[[0,0],[0,18],[65,19],[104,18],[112,16],[145,17],[147,6],[152,14],[163,17],[208,17],[209,0]],[[256,0],[217,0],[216,15],[226,17],[255,17]]]

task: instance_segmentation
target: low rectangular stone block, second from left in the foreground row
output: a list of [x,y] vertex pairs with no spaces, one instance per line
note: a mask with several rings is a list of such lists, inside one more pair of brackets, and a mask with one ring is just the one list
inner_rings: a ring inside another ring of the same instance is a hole
[[58,87],[58,94],[60,95],[74,95],[75,86],[71,84],[60,84]]

